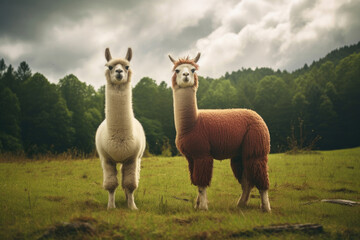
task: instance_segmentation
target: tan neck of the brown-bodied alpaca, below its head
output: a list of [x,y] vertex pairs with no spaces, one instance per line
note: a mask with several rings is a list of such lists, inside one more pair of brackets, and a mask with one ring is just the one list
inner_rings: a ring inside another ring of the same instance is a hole
[[184,134],[194,127],[198,118],[196,91],[194,88],[173,90],[174,119],[177,134]]

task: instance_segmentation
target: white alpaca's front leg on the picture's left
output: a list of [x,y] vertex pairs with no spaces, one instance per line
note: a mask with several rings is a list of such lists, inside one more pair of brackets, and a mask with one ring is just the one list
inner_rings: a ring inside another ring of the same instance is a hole
[[103,169],[103,187],[109,192],[108,209],[115,208],[115,190],[119,185],[116,177],[116,163],[101,157],[101,165]]

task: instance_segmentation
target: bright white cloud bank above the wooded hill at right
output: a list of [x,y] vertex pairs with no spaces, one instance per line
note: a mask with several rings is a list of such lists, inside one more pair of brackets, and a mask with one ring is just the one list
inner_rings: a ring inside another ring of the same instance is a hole
[[[241,67],[294,70],[333,48],[355,43],[360,40],[359,24],[348,20],[360,18],[341,11],[349,4],[360,5],[335,0],[291,4],[243,0],[223,16],[221,26],[197,41],[194,51],[203,52],[201,73],[219,77]],[[349,32],[356,34],[348,37]],[[339,34],[346,36],[339,39]]]

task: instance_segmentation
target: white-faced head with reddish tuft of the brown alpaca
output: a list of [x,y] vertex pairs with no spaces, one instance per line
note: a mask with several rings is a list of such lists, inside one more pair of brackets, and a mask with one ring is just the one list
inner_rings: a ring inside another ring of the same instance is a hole
[[178,61],[176,61],[170,55],[169,58],[174,64],[174,75],[172,77],[173,88],[197,88],[198,76],[196,74],[196,70],[199,69],[199,65],[197,64],[197,62],[200,59],[200,53],[198,53],[198,55],[194,59],[186,57],[180,58]]

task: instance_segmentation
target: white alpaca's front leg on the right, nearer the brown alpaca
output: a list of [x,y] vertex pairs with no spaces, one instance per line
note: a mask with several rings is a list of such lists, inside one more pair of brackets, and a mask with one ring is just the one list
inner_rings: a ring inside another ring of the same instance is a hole
[[134,201],[134,191],[139,184],[140,176],[140,161],[141,159],[134,159],[128,162],[125,162],[122,165],[122,187],[125,191],[125,197],[127,201],[128,208],[131,210],[137,210],[135,201]]

